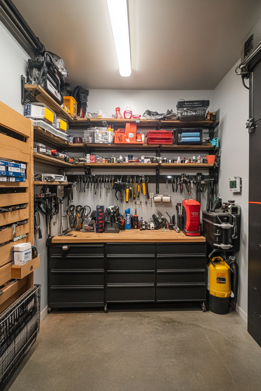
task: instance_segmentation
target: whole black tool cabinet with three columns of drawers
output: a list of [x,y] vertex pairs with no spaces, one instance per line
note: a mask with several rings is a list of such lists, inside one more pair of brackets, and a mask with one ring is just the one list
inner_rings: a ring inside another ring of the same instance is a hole
[[205,308],[204,242],[48,246],[48,307],[199,301]]

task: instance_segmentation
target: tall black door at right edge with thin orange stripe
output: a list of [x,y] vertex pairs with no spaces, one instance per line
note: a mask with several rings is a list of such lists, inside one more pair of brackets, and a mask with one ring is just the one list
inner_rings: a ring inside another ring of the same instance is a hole
[[[261,118],[261,61],[250,76],[250,112]],[[248,332],[261,346],[261,120],[249,135],[249,217],[248,217]]]

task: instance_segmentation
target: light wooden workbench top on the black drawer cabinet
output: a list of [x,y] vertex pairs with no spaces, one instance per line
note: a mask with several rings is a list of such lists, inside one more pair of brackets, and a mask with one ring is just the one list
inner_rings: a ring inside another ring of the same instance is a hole
[[[119,233],[95,233],[72,231],[72,236],[58,236],[52,239],[52,243],[105,243],[105,242],[205,242],[203,236],[186,236],[183,232],[163,232],[162,230],[140,231],[125,230]],[[77,235],[74,237],[74,235]]]

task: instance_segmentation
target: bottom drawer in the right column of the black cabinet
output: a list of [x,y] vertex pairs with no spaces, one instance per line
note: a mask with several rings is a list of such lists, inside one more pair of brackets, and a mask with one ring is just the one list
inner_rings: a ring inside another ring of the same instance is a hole
[[204,301],[205,284],[162,284],[156,287],[156,301]]

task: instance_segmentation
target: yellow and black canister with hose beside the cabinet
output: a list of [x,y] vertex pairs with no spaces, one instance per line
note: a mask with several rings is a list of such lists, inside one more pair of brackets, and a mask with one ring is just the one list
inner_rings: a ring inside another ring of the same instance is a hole
[[[209,310],[214,312],[214,314],[228,314],[229,306],[231,305],[235,308],[237,301],[238,264],[236,263],[236,258],[230,256],[226,259],[225,253],[215,249],[209,254],[208,259],[207,289],[209,291]],[[232,271],[232,274],[230,271]],[[230,300],[230,297],[232,300]]]

